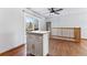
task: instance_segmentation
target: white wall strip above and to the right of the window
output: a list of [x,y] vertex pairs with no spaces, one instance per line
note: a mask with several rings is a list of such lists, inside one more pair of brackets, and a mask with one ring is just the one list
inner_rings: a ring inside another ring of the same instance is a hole
[[28,10],[25,9],[25,12],[24,12],[24,15],[25,17],[29,17],[29,18],[35,18],[39,20],[39,30],[41,31],[45,31],[46,30],[46,23],[45,23],[45,18],[32,12],[31,10]]

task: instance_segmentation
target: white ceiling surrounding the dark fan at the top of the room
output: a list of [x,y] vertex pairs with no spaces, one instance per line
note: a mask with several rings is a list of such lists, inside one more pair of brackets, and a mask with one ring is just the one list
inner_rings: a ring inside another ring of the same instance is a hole
[[[51,17],[50,11],[47,8],[30,8],[34,12],[47,18]],[[58,9],[58,8],[56,8]],[[81,12],[87,12],[87,8],[63,8],[63,11],[59,11],[58,13],[61,14],[53,14],[54,15],[64,15],[64,14],[70,14],[70,13],[81,13]]]

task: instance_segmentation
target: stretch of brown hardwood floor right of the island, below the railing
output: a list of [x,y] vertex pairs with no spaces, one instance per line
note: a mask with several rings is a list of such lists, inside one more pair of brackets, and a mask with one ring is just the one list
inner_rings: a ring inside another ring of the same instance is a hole
[[87,56],[87,41],[74,43],[63,40],[50,40],[50,54],[52,56]]

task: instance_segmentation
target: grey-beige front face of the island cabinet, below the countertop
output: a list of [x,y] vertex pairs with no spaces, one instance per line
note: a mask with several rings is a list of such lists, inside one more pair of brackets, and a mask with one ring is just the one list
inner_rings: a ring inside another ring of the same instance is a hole
[[28,53],[32,53],[36,56],[43,55],[43,35],[29,34],[26,43],[28,43]]

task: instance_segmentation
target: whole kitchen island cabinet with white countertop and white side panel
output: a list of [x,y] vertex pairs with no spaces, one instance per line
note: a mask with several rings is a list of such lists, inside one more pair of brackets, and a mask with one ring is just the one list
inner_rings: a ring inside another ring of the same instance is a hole
[[26,33],[28,54],[45,56],[48,54],[48,31],[32,31]]

